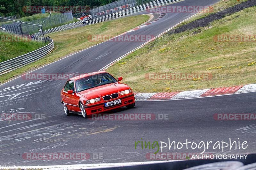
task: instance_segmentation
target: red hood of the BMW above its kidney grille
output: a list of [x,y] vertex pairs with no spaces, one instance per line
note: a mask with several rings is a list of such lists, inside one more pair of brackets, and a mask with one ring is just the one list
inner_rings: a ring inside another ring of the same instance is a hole
[[94,87],[88,90],[84,90],[82,92],[78,92],[77,94],[80,94],[87,98],[87,100],[94,99],[97,97],[103,97],[108,94],[113,94],[116,92],[121,92],[123,90],[129,89],[130,87],[128,85],[125,85],[123,83],[111,83],[106,85],[101,85],[98,87]]

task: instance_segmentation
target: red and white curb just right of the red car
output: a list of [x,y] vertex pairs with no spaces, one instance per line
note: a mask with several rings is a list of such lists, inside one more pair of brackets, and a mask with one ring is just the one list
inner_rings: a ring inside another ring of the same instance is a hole
[[136,93],[135,100],[174,100],[256,92],[256,84],[185,92]]

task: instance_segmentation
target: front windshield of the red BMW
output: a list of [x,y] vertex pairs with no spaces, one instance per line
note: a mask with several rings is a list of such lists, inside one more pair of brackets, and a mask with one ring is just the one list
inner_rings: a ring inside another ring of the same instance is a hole
[[117,80],[108,73],[100,73],[88,76],[75,81],[76,92],[81,92],[83,90],[87,90],[93,87],[115,82],[117,82]]

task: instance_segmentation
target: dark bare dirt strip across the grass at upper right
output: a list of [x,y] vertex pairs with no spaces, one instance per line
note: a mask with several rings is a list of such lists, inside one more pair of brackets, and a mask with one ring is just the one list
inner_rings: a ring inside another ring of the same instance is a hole
[[255,5],[256,5],[256,0],[248,0],[241,4],[229,7],[226,10],[210,14],[207,17],[200,18],[200,19],[192,21],[186,25],[180,26],[174,30],[167,32],[167,34],[170,35],[173,33],[181,33],[181,32],[187,31],[187,30],[195,29],[197,27],[204,27],[204,26],[207,26],[210,22],[212,22],[214,20],[224,18],[227,15],[233,14],[235,12],[243,10],[244,8],[249,8],[249,7],[252,7]]

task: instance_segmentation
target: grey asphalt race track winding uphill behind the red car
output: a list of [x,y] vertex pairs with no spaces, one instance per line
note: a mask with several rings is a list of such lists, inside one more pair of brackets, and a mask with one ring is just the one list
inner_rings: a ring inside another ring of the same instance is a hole
[[[185,0],[180,6],[207,6],[218,0]],[[144,12],[146,13],[146,12]],[[158,35],[193,13],[166,13],[148,26],[130,35]],[[84,27],[86,28],[86,27]],[[87,73],[100,70],[144,42],[104,42],[35,70],[34,73]],[[153,61],[152,61],[153,62]],[[122,76],[122,75],[120,75]],[[125,77],[124,77],[125,79]],[[60,90],[66,80],[33,81],[16,78],[0,86],[0,113],[30,113],[34,119],[0,122],[0,159],[5,165],[61,165],[151,161],[147,153],[155,149],[135,149],[135,141],[232,141],[248,142],[248,147],[224,152],[255,153],[253,121],[216,121],[215,113],[255,113],[256,92],[200,99],[172,101],[137,101],[132,109],[111,113],[149,113],[154,120],[92,120],[81,115],[66,116],[60,103]],[[36,117],[40,115],[43,117]],[[161,119],[165,115],[166,119]],[[36,119],[38,118],[38,119]],[[239,139],[238,139],[239,138]],[[179,153],[200,153],[199,149],[180,149]],[[90,153],[88,160],[28,160],[24,153]],[[160,151],[159,151],[160,152]],[[163,152],[174,152],[164,148]],[[100,159],[92,157],[102,156]]]

